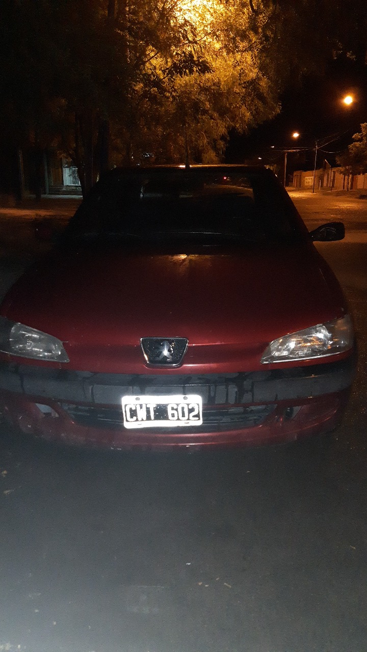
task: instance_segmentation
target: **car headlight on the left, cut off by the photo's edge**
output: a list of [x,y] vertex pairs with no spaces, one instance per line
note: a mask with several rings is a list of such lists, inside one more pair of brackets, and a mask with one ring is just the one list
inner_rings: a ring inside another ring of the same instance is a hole
[[56,337],[0,317],[0,351],[23,358],[68,363],[63,343]]

